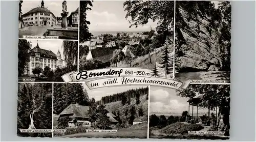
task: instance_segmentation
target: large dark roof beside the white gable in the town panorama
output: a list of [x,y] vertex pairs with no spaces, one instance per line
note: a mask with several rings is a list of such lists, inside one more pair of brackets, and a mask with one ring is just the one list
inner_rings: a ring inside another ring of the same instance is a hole
[[105,63],[110,61],[115,49],[117,48],[96,48],[90,50],[90,52],[94,60],[99,60]]

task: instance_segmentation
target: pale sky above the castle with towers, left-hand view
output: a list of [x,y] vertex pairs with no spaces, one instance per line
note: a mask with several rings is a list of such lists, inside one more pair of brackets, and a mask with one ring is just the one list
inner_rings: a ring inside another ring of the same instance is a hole
[[[28,40],[31,42],[33,49],[37,45],[37,40]],[[62,40],[38,40],[38,46],[41,49],[51,50],[55,54],[57,54],[58,49],[61,54],[61,59],[65,60],[65,57],[63,55],[63,48],[62,48]]]

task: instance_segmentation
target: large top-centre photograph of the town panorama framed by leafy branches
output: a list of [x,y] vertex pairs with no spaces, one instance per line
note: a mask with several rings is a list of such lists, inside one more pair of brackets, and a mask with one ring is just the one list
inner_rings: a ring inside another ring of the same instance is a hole
[[79,71],[137,67],[173,78],[174,1],[80,1],[79,9]]

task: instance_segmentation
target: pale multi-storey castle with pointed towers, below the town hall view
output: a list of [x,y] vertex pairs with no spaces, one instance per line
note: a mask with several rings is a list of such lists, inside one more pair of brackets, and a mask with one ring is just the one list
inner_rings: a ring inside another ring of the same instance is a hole
[[57,54],[55,54],[51,50],[40,48],[38,43],[36,47],[30,50],[29,60],[24,70],[25,75],[33,75],[32,71],[35,67],[40,67],[44,70],[44,68],[48,66],[54,71],[57,67],[63,68],[66,66],[65,61],[61,59],[59,50]]

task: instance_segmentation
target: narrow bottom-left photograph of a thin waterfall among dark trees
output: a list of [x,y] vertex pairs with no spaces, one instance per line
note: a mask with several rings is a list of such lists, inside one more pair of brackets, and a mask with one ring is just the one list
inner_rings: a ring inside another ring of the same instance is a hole
[[17,135],[52,137],[52,133],[24,133],[19,129],[52,129],[52,83],[18,83]]

